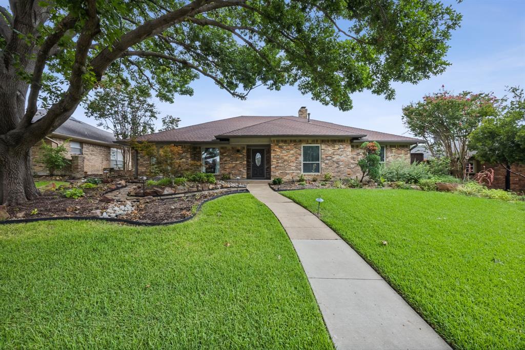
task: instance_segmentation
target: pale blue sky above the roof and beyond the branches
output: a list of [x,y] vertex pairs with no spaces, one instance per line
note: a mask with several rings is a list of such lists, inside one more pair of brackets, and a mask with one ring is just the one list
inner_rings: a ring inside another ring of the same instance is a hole
[[[192,97],[176,96],[174,104],[155,100],[160,117],[171,114],[182,119],[180,126],[238,115],[297,115],[301,106],[307,106],[312,119],[371,129],[398,135],[410,135],[401,121],[401,108],[417,101],[442,85],[455,92],[493,91],[505,94],[505,86],[525,87],[525,1],[523,0],[466,0],[457,4],[446,1],[461,14],[463,22],[449,42],[447,60],[451,66],[442,75],[417,85],[395,84],[396,98],[387,101],[369,92],[354,94],[354,108],[342,112],[331,106],[322,106],[295,87],[269,91],[259,87],[240,101],[219,89],[203,77],[192,86]],[[75,118],[95,125],[79,107]],[[160,126],[160,118],[158,121]]]

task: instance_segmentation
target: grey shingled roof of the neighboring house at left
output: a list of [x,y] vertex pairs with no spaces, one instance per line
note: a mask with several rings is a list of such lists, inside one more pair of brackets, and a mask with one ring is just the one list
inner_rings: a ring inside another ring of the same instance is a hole
[[[33,118],[36,121],[42,118],[46,111],[39,109]],[[64,136],[66,138],[78,139],[83,141],[92,141],[95,143],[113,144],[115,137],[111,132],[101,130],[88,123],[69,117],[61,126],[51,133],[54,136]]]

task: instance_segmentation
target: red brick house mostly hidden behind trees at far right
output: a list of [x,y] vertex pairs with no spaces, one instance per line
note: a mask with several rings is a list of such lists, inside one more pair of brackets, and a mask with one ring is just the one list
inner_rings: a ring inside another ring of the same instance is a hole
[[[499,164],[482,163],[474,157],[475,155],[475,151],[469,151],[467,154],[468,161],[465,166],[465,172],[469,177],[473,178],[478,172],[482,170],[493,169],[494,181],[490,186],[491,188],[525,192],[525,178],[508,172]],[[418,145],[411,150],[411,158],[413,160],[416,159],[418,161],[427,162],[434,157],[426,145]],[[525,164],[512,164],[511,169],[523,174],[525,173]]]

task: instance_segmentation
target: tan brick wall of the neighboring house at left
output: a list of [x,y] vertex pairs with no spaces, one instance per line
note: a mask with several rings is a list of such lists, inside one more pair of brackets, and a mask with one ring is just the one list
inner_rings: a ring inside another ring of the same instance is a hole
[[[66,139],[52,137],[55,142],[58,142],[59,145],[63,145],[66,142]],[[38,142],[35,146],[31,147],[30,157],[31,157],[31,171],[39,175],[47,175],[48,171],[45,169],[44,164],[38,161],[38,158],[41,156],[40,145],[41,142]],[[51,142],[48,139],[44,139],[43,142],[47,145],[52,145],[56,147],[55,142]],[[66,145],[66,148],[69,150],[69,144]],[[84,156],[84,171],[90,174],[101,174],[104,168],[110,167],[110,149],[111,147],[95,145],[94,143],[82,142],[82,156]],[[66,153],[65,157],[71,159],[71,152]],[[73,155],[74,156],[74,155]],[[69,174],[71,172],[71,167],[67,167],[62,171],[57,172],[57,174]]]

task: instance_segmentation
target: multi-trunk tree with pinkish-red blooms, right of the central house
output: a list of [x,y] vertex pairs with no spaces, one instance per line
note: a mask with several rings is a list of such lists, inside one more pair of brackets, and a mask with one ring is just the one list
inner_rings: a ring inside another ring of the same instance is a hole
[[463,91],[453,95],[443,88],[403,107],[402,118],[414,136],[426,141],[432,156],[449,158],[451,171],[461,177],[470,133],[482,119],[496,114],[498,104],[492,94]]

